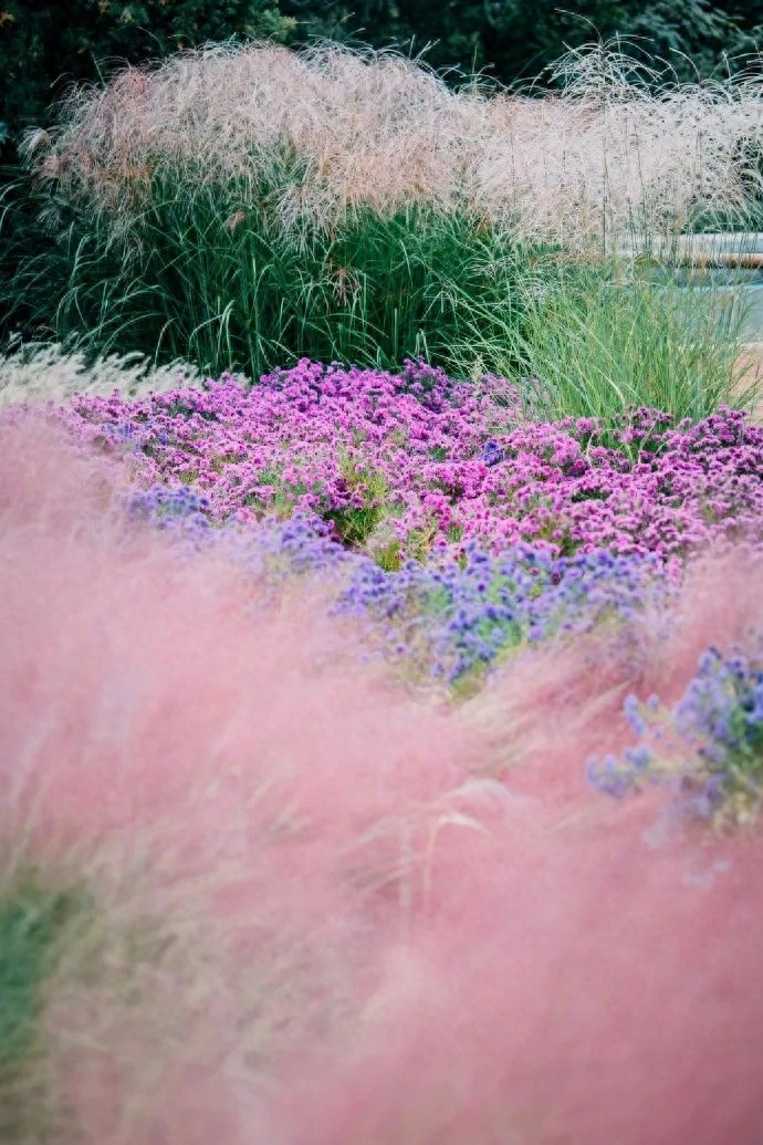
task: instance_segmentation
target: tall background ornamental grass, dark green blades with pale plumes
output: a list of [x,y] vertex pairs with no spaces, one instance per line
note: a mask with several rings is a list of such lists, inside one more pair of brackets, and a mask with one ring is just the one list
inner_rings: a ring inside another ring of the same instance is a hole
[[526,98],[390,52],[249,44],[74,89],[26,141],[50,238],[5,302],[90,356],[213,373],[494,369],[579,256],[603,273],[699,213],[756,226],[754,79],[676,85],[599,46],[551,81]]

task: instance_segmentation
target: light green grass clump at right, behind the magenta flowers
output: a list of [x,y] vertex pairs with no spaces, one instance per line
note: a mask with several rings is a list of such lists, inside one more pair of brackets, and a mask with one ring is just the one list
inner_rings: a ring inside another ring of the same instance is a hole
[[[492,342],[476,315],[462,348],[498,373],[527,379],[534,417],[610,420],[650,406],[702,418],[731,400],[740,316],[733,291],[679,289],[649,278],[617,282],[596,271],[561,273],[528,303],[518,337]],[[745,403],[752,395],[739,395]]]

